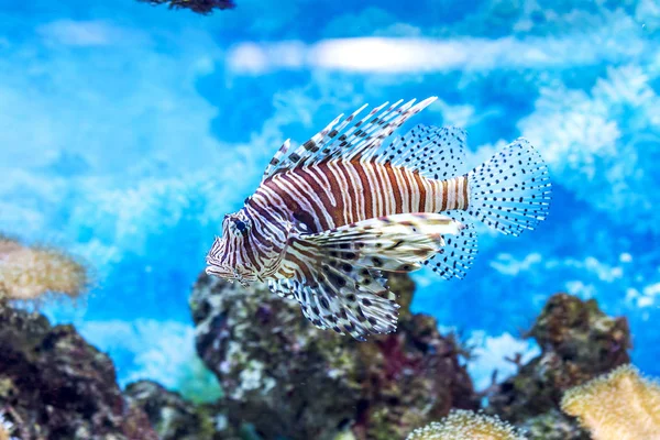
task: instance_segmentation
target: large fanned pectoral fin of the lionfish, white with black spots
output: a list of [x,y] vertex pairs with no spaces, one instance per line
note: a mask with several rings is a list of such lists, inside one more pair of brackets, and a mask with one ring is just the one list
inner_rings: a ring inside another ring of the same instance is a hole
[[397,215],[293,239],[280,296],[298,300],[302,315],[321,329],[364,340],[396,330],[398,305],[381,271],[409,272],[444,245],[462,226],[440,215]]

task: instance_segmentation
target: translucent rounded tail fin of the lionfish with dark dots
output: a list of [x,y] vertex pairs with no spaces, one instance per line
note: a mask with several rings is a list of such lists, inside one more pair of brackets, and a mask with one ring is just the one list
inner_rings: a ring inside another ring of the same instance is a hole
[[469,173],[468,212],[505,234],[519,235],[546,219],[552,185],[548,167],[520,138]]

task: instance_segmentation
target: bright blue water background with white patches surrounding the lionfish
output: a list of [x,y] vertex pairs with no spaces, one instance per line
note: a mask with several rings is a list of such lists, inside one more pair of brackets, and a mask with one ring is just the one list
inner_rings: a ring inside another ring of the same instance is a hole
[[482,231],[466,279],[417,274],[414,309],[506,342],[551,294],[593,297],[629,319],[635,363],[660,376],[656,0],[237,3],[201,16],[0,0],[0,231],[88,261],[85,304],[45,311],[107,350],[122,383],[188,377],[190,286],[285,139],[432,95],[413,123],[465,128],[473,165],[527,136],[554,200],[536,232]]

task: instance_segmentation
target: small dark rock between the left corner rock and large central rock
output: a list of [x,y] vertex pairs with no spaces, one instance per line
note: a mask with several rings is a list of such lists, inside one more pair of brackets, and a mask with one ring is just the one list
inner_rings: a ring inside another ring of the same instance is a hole
[[161,440],[238,439],[218,407],[191,404],[155,382],[132,383],[124,395],[146,413]]

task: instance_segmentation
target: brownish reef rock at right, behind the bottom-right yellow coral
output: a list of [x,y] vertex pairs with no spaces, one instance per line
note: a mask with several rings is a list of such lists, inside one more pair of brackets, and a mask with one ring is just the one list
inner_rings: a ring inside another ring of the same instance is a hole
[[630,362],[626,318],[610,318],[593,299],[553,295],[528,336],[541,354],[499,384],[487,411],[528,430],[532,439],[588,439],[559,410],[563,393]]

